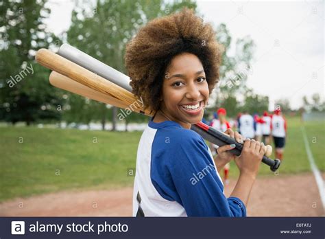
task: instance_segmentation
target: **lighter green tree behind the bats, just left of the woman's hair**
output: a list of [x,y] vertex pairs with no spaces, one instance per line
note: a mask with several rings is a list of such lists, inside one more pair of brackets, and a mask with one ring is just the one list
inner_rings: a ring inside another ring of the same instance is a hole
[[[86,54],[97,58],[97,60],[125,73],[123,60],[125,46],[136,34],[139,27],[150,19],[163,14],[170,14],[184,6],[196,8],[196,4],[192,1],[165,3],[161,0],[107,0],[96,1],[94,5],[91,3],[76,5],[72,12],[72,24],[67,32],[68,42]],[[81,107],[79,104],[86,104],[86,102],[80,98],[80,102],[78,101],[76,105],[71,104],[71,109]],[[101,120],[104,129],[108,109],[101,103],[95,103],[92,106],[97,112],[101,112],[93,114],[93,120]],[[75,111],[70,111],[70,113],[73,112]],[[80,113],[89,114],[88,111]],[[112,113],[114,130],[115,122],[117,122],[117,109],[113,108]],[[99,119],[95,116],[99,116]]]

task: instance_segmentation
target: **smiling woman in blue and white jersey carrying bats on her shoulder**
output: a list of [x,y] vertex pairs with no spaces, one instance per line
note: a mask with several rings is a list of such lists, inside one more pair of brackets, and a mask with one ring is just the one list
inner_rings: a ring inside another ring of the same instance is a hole
[[264,147],[245,141],[236,158],[241,177],[226,198],[218,170],[234,159],[228,152],[234,145],[218,148],[214,161],[204,139],[189,130],[202,120],[219,78],[220,49],[213,27],[186,9],[149,22],[128,44],[133,93],[154,111],[136,158],[134,216],[246,215]]

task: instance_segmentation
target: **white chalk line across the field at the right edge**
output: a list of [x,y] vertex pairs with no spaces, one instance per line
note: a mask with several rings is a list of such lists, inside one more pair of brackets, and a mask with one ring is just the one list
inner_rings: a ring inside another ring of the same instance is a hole
[[320,191],[320,199],[323,204],[323,210],[325,210],[325,183],[322,178],[322,174],[320,174],[320,170],[318,170],[315,160],[313,158],[313,154],[311,153],[311,148],[309,146],[309,142],[307,140],[306,136],[306,130],[304,129],[304,126],[301,127],[302,136],[304,137],[304,146],[306,146],[306,153],[308,156],[309,163],[311,164],[311,170],[313,170],[313,174],[315,176],[315,180],[318,186],[318,190]]

